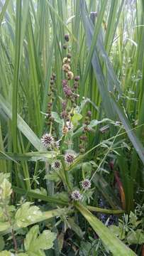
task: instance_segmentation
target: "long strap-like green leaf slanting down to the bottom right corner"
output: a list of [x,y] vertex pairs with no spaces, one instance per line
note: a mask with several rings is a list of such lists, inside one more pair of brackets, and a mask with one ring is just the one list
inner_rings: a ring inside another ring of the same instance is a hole
[[113,233],[107,228],[101,221],[96,218],[92,213],[87,210],[80,203],[75,203],[75,207],[79,210],[80,213],[86,218],[89,224],[92,226],[94,231],[99,238],[101,238],[104,245],[112,252],[114,256],[134,256],[135,252],[133,252],[130,248],[128,248],[121,240],[116,238]]

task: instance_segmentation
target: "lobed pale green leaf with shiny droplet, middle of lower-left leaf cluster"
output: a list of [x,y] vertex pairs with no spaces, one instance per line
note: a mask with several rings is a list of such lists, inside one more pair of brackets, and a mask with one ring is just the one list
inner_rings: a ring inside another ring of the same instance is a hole
[[43,213],[38,206],[31,206],[30,202],[23,203],[15,215],[16,225],[19,228],[26,228],[31,223],[40,221]]

